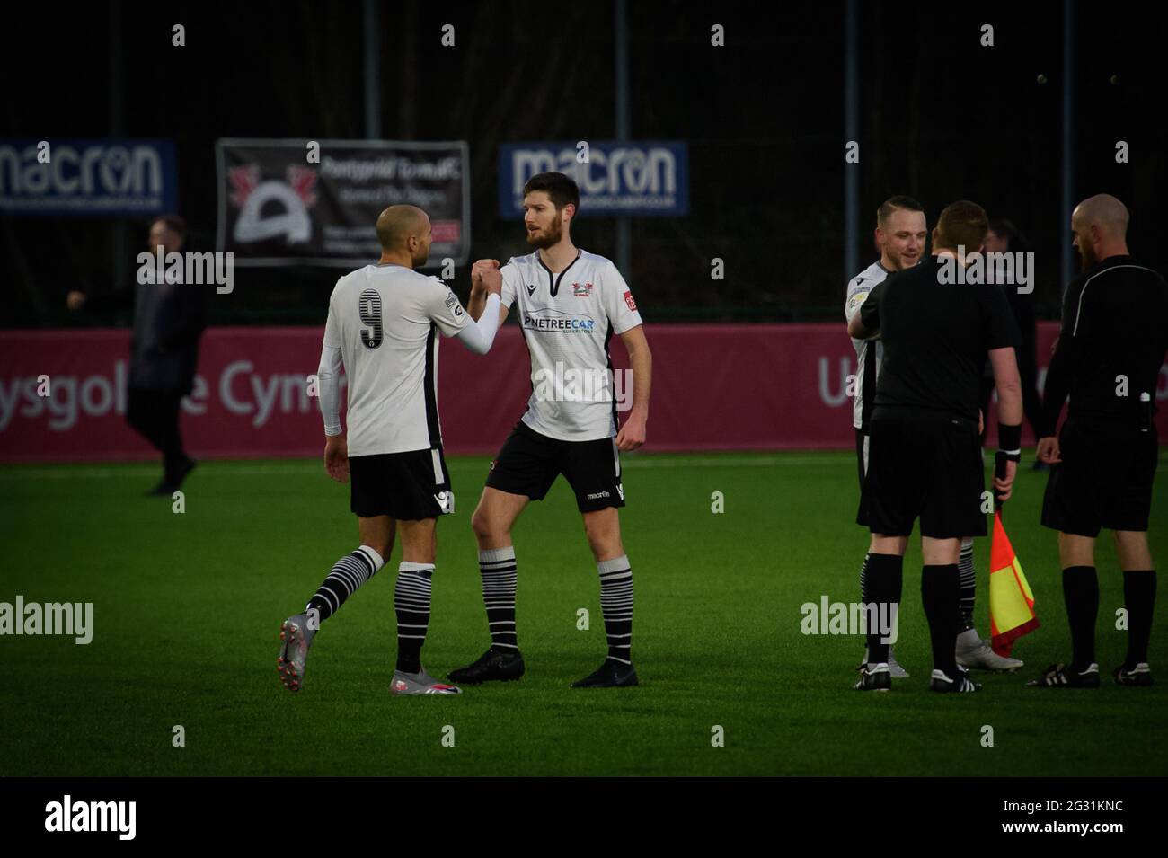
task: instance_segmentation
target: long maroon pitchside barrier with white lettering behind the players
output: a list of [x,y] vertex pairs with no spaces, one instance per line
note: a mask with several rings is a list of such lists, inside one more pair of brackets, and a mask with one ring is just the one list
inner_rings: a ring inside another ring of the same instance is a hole
[[[1038,326],[1040,384],[1057,333],[1054,322]],[[324,428],[307,377],[317,371],[321,335],[321,328],[209,328],[194,392],[182,404],[190,453],[320,455]],[[854,448],[847,389],[856,357],[842,325],[649,325],[646,336],[653,349],[646,452]],[[126,329],[0,333],[0,461],[154,458],[125,423],[128,349]],[[611,349],[614,368],[627,369],[619,337]],[[627,388],[613,385],[618,403]],[[505,326],[485,356],[442,340],[446,451],[498,452],[531,390],[517,326]],[[1168,368],[1155,398],[1159,431],[1168,433]],[[1029,426],[1023,438],[1033,444]]]

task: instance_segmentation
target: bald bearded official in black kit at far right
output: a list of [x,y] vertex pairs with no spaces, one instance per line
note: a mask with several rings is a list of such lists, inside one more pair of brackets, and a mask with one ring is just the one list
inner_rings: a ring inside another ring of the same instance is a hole
[[[1100,528],[1114,533],[1127,608],[1127,657],[1113,675],[1120,685],[1152,684],[1156,573],[1148,517],[1157,456],[1152,414],[1168,351],[1168,285],[1128,254],[1127,219],[1124,203],[1107,194],[1084,200],[1071,214],[1083,273],[1063,297],[1038,433],[1038,458],[1052,466],[1042,523],[1058,531],[1071,663],[1055,664],[1028,683],[1038,688],[1099,685],[1094,540]],[[1068,395],[1070,409],[1056,438]]]

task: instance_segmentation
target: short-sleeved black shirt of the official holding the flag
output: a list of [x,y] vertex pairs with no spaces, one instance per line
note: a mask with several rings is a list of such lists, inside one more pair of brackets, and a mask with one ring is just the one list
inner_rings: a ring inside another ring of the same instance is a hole
[[[955,263],[954,263],[955,264]],[[860,308],[880,329],[884,361],[877,409],[906,405],[976,421],[986,353],[1017,344],[1001,287],[943,284],[938,257],[890,274]]]

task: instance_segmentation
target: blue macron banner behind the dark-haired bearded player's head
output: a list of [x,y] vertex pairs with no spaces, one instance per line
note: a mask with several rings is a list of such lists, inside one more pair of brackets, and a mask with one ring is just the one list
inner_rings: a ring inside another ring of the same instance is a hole
[[580,186],[580,215],[689,214],[689,147],[669,140],[522,142],[499,147],[499,214],[523,214],[523,183],[565,173]]

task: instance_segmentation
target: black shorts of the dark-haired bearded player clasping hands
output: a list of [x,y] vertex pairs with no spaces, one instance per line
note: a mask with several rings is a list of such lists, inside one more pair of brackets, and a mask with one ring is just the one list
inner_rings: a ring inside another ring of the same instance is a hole
[[616,438],[561,441],[540,434],[522,420],[491,463],[487,486],[542,501],[559,474],[576,493],[580,512],[625,505]]

